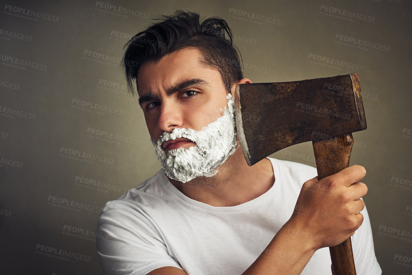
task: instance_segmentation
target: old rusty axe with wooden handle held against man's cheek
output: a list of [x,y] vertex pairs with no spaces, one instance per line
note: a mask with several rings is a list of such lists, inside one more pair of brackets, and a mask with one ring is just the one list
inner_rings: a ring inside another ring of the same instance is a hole
[[[312,141],[318,179],[349,166],[352,133],[366,129],[356,73],[236,86],[236,127],[249,166]],[[335,275],[356,275],[351,238],[329,247]]]

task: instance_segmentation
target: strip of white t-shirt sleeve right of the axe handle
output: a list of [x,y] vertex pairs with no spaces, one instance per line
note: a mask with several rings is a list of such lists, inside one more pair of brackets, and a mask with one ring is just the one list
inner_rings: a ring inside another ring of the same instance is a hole
[[351,236],[353,259],[355,261],[356,273],[362,275],[381,275],[382,270],[375,256],[373,246],[372,228],[368,211],[361,211],[363,223]]

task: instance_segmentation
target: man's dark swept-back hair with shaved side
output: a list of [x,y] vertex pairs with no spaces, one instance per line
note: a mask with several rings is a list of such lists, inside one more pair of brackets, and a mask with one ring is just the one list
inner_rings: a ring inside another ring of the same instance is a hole
[[139,89],[137,74],[142,63],[157,62],[163,56],[185,48],[198,49],[201,63],[220,72],[227,93],[243,78],[241,55],[224,19],[210,17],[200,22],[198,13],[177,10],[171,16],[159,15],[154,20],[154,24],[133,36],[123,47],[126,51],[122,66],[128,92],[133,96],[133,80]]

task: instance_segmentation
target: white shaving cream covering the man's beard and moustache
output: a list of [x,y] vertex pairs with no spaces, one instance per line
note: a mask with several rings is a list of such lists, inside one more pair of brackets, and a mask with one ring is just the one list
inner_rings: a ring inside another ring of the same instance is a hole
[[[213,171],[236,151],[236,131],[234,120],[234,100],[231,94],[226,96],[227,107],[223,115],[203,127],[200,131],[175,128],[171,133],[164,132],[153,143],[157,159],[169,178],[185,183],[198,176],[214,176]],[[190,139],[195,146],[176,148],[167,153],[162,144],[169,139],[180,137]]]

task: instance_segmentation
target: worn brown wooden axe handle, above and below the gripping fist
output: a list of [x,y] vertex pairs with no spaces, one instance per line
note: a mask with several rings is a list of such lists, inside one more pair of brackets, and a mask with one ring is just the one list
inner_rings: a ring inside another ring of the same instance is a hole
[[[352,134],[312,141],[318,179],[335,174],[349,166],[353,146]],[[351,238],[329,247],[334,275],[356,275]]]

